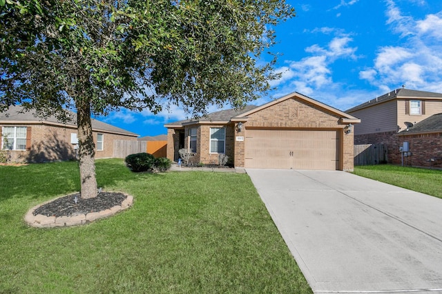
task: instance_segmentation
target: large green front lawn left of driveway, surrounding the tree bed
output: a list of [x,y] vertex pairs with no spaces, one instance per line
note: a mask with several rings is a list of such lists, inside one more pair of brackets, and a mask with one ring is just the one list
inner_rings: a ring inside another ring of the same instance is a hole
[[0,293],[311,293],[247,174],[133,174],[97,160],[131,209],[35,229],[31,207],[79,190],[77,162],[0,166]]

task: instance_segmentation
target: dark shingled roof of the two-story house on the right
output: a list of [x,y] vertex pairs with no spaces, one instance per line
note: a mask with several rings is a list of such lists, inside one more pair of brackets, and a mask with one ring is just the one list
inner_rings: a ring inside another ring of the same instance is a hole
[[363,109],[365,107],[370,107],[373,105],[377,105],[380,103],[384,103],[387,101],[391,101],[394,99],[441,99],[442,100],[442,94],[441,93],[434,93],[434,92],[425,92],[425,91],[418,91],[418,90],[410,90],[410,89],[396,89],[392,92],[388,92],[387,94],[383,94],[382,96],[378,96],[370,101],[367,101],[365,103],[362,103],[360,105],[356,105],[355,107],[352,107],[345,112],[354,112],[359,109]]

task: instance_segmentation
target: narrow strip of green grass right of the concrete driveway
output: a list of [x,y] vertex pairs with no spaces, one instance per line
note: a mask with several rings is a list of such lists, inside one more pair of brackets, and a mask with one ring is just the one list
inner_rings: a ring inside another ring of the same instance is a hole
[[354,167],[354,174],[442,198],[442,171],[437,169],[366,165]]

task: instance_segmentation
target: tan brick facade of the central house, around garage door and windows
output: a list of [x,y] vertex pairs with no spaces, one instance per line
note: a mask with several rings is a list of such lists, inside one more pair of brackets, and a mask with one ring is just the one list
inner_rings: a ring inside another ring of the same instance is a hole
[[[295,95],[297,96],[297,95]],[[309,99],[310,100],[310,99]],[[236,116],[233,121],[223,124],[211,123],[210,121],[195,121],[194,124],[186,122],[184,125],[171,125],[168,129],[167,157],[171,160],[179,158],[180,132],[184,132],[184,147],[189,148],[189,130],[193,127],[197,131],[197,151],[192,158],[195,164],[204,163],[218,164],[218,154],[210,153],[210,128],[224,127],[226,129],[225,154],[229,156],[229,162],[235,167],[244,167],[245,140],[247,140],[247,128],[259,129],[312,129],[338,131],[340,138],[339,169],[352,171],[354,167],[354,137],[352,133],[345,134],[344,128],[348,123],[343,123],[343,113],[334,112],[332,107],[322,107],[321,103],[309,102],[303,98],[289,97],[279,99],[277,102],[268,103],[256,110],[244,112],[242,116]],[[353,119],[351,116],[350,120]],[[356,120],[356,123],[358,120]],[[242,132],[238,132],[238,123],[242,123]],[[238,138],[237,137],[242,137]]]

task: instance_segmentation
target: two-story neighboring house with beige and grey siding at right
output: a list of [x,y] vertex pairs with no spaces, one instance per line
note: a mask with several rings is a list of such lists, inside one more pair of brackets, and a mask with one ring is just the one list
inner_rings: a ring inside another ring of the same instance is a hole
[[[401,136],[416,123],[442,112],[442,94],[398,89],[348,109],[361,118],[354,127],[354,144],[382,143],[387,146],[387,161],[400,164]],[[410,150],[413,151],[414,150]],[[434,155],[436,156],[436,154]]]

